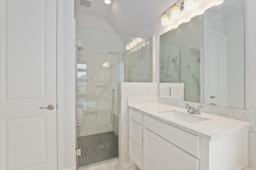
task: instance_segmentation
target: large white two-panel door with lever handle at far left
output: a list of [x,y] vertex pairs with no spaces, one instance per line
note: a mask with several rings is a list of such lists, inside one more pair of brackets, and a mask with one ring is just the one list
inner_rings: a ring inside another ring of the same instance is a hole
[[0,170],[57,170],[56,2],[0,0]]

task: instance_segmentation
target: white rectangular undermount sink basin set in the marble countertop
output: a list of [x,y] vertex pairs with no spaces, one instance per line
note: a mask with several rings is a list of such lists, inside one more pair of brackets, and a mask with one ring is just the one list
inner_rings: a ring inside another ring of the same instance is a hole
[[183,113],[176,110],[169,110],[169,111],[160,111],[158,115],[164,119],[178,119],[180,121],[188,122],[188,123],[196,123],[199,121],[209,120],[204,117],[191,115],[190,113]]

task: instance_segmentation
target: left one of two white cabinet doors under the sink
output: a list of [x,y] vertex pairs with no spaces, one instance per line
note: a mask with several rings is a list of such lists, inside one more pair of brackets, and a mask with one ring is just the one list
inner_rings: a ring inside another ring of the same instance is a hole
[[143,128],[143,169],[163,169],[163,139]]

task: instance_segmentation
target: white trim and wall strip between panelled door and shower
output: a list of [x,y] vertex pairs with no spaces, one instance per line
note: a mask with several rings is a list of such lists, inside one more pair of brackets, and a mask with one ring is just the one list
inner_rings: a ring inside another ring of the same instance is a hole
[[58,170],[76,170],[74,2],[57,7]]

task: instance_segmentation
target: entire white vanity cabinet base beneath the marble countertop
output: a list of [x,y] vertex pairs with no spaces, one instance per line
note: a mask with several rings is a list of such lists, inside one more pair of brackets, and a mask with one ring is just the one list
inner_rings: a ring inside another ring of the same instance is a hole
[[130,161],[141,170],[241,170],[248,165],[248,128],[209,140],[156,118],[129,108]]

